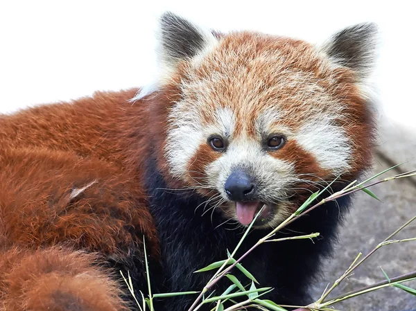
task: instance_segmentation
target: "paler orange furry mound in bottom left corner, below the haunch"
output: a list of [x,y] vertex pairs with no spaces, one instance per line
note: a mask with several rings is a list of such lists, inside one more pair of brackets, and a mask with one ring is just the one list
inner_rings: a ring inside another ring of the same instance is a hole
[[94,254],[58,247],[0,254],[0,310],[127,310],[120,284],[95,261]]

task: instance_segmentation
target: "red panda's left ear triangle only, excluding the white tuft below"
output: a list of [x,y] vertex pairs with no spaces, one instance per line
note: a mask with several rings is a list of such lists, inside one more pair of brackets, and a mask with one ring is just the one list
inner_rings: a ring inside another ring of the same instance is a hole
[[200,55],[217,42],[209,30],[203,30],[172,12],[162,15],[159,27],[160,57],[165,66],[175,66],[180,60]]

